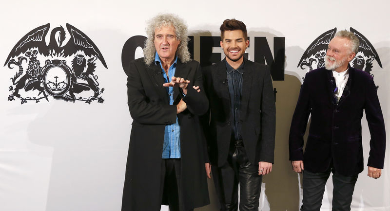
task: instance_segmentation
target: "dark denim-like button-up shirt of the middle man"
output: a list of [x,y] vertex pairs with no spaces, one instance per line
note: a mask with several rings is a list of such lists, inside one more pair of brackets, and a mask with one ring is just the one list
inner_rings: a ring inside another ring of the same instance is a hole
[[244,73],[244,63],[234,70],[232,66],[226,62],[226,73],[228,77],[230,105],[232,109],[232,115],[234,116],[234,124],[232,129],[235,140],[242,140],[241,137],[241,123],[240,123],[240,111],[241,111],[241,90],[242,90],[242,74]]

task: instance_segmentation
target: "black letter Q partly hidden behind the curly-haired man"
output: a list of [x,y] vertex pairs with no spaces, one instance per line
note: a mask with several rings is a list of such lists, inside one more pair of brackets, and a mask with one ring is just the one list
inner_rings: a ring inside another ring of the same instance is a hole
[[143,48],[145,45],[146,36],[137,35],[130,37],[122,49],[122,68],[127,71],[129,63],[135,59],[136,49],[138,47]]

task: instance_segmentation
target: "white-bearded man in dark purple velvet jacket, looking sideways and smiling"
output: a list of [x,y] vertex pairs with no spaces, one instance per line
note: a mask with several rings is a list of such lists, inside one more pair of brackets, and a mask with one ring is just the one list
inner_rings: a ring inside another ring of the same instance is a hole
[[[379,178],[385,158],[386,133],[376,87],[370,74],[349,62],[359,39],[337,32],[328,45],[325,68],[306,74],[290,128],[292,169],[303,173],[301,211],[319,211],[325,184],[332,173],[332,211],[351,210],[358,174],[363,171],[363,110],[370,129],[368,176]],[[303,151],[309,115],[309,137]]]

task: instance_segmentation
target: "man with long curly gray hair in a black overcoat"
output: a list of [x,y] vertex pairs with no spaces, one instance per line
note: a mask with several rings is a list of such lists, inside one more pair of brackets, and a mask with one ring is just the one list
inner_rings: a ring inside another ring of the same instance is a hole
[[181,18],[152,18],[144,57],[126,70],[133,118],[122,211],[191,211],[209,204],[198,115],[209,101],[198,62],[190,59]]

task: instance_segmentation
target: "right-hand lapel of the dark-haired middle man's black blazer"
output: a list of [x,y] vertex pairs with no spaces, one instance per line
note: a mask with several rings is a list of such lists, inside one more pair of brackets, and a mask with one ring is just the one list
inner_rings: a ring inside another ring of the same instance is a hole
[[[246,61],[246,59],[245,59]],[[253,80],[253,71],[252,65],[250,66],[249,62],[244,61],[244,73],[242,75],[242,84],[241,84],[241,113],[240,119],[245,121],[247,115],[247,108],[249,102],[249,96],[251,95],[252,80]]]

